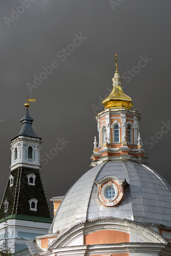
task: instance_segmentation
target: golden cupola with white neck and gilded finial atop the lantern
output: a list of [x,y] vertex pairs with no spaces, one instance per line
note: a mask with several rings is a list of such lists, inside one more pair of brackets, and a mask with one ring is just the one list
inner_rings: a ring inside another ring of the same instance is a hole
[[117,54],[115,54],[116,72],[112,79],[113,90],[111,94],[102,101],[105,109],[131,109],[133,106],[132,99],[122,91],[122,78],[118,73]]

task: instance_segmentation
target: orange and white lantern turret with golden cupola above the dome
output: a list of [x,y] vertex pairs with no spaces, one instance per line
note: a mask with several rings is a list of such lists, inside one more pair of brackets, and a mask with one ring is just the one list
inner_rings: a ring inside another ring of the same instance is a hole
[[91,159],[93,166],[106,160],[134,160],[145,163],[147,157],[143,150],[139,133],[140,114],[131,110],[132,99],[122,91],[122,78],[118,73],[117,54],[116,73],[111,94],[102,101],[105,110],[96,116],[99,147],[96,137]]

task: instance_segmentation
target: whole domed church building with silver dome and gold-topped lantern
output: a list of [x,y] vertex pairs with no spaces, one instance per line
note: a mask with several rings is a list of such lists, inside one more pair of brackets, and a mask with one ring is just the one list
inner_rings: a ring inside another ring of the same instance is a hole
[[171,187],[145,164],[140,114],[121,82],[116,59],[113,91],[96,116],[94,167],[62,201],[54,198],[60,204],[52,225],[28,242],[31,255],[171,255]]

